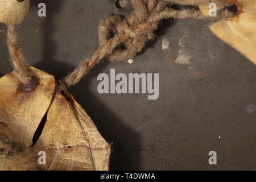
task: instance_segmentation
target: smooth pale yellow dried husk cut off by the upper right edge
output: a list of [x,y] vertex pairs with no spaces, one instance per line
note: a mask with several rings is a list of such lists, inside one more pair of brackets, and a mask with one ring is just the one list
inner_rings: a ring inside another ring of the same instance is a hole
[[237,2],[242,5],[242,13],[233,19],[223,19],[214,23],[210,30],[256,64],[256,1]]

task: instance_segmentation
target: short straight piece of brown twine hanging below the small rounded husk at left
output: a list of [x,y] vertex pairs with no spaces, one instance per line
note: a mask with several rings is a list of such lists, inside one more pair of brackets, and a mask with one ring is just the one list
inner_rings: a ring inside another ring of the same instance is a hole
[[9,25],[7,27],[7,45],[11,56],[11,64],[14,67],[14,73],[22,84],[27,85],[31,82],[31,75],[28,73],[27,61],[22,51],[17,47],[18,34],[16,27]]

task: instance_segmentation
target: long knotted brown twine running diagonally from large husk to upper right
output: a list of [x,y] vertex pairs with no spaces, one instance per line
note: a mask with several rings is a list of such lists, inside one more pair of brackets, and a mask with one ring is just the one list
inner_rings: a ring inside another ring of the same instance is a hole
[[[169,0],[131,0],[134,11],[129,18],[123,19],[120,16],[109,16],[100,22],[98,38],[100,48],[93,56],[82,60],[79,66],[63,82],[69,86],[77,84],[93,65],[101,59],[110,61],[127,60],[141,52],[148,40],[155,38],[154,31],[158,28],[159,22],[166,18],[209,18],[197,10],[174,10],[167,7]],[[171,0],[170,0],[171,1]],[[186,1],[186,0],[185,0]],[[201,0],[200,0],[201,1]],[[177,3],[181,2],[176,1]],[[233,15],[233,14],[232,14]],[[228,10],[221,11],[217,18],[232,16]],[[214,19],[210,17],[210,19]],[[110,35],[114,34],[113,37]],[[125,47],[125,49],[118,46]]]

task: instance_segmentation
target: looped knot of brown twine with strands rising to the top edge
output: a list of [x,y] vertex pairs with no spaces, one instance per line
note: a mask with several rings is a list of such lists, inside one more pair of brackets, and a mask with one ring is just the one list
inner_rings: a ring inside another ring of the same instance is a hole
[[149,21],[148,18],[166,4],[157,3],[155,0],[148,1],[147,4],[142,0],[131,0],[131,3],[134,11],[129,18],[123,19],[121,16],[114,15],[100,22],[98,38],[101,46],[121,32],[128,37],[125,42],[118,44],[114,50],[105,55],[109,61],[128,60],[141,52],[148,40],[155,38],[154,30],[158,28],[159,20]]

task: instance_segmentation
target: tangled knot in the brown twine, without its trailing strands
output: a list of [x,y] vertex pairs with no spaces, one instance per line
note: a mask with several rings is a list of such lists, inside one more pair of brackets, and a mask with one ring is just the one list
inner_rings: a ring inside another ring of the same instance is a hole
[[113,35],[122,35],[120,43],[106,53],[109,61],[128,60],[141,52],[148,40],[154,39],[154,30],[158,22],[138,23],[133,19],[122,19],[120,16],[110,16],[101,20],[98,30],[100,46],[104,46]]

